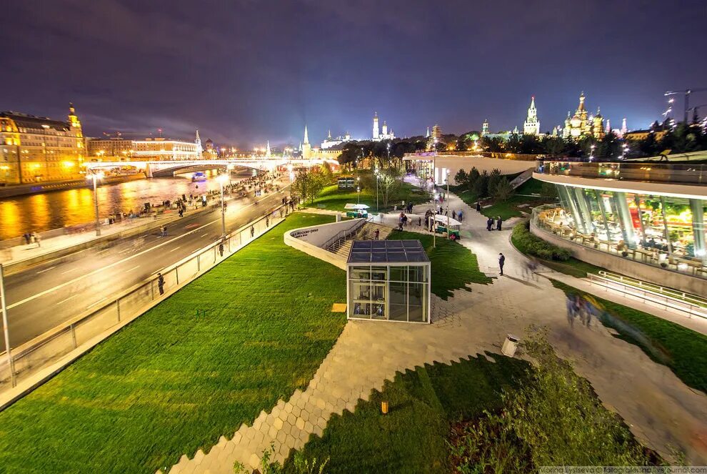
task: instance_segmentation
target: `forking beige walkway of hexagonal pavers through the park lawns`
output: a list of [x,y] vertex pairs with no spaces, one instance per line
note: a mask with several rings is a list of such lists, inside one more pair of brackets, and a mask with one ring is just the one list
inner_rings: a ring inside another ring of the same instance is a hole
[[[663,454],[674,445],[686,452],[688,462],[707,463],[707,396],[605,327],[570,327],[563,292],[545,278],[523,277],[525,257],[511,247],[510,227],[487,232],[486,217],[456,196],[451,199],[452,208],[466,214],[460,242],[476,253],[483,272],[498,277],[493,285],[471,285],[471,292],[458,290],[448,301],[433,295],[432,325],[348,322],[304,392],[281,400],[253,425],[241,425],[208,454],[183,456],[169,472],[232,473],[236,461],[255,468],[271,443],[274,460],[282,461],[312,434],[321,435],[332,414],[353,411],[359,398],[367,400],[396,372],[500,352],[508,332],[522,337],[531,324],[549,328],[558,354],[574,361],[576,371],[643,443]],[[498,276],[498,252],[506,255],[503,277]]]

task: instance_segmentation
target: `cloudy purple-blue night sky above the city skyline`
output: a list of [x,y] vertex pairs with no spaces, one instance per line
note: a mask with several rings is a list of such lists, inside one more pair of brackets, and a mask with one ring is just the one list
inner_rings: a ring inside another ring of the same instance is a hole
[[[707,87],[707,2],[6,0],[0,109],[86,134],[161,127],[239,147],[326,130],[370,137],[543,132],[580,92],[619,127],[646,127],[667,89]],[[707,104],[707,93],[693,94]],[[676,112],[682,117],[682,99]],[[707,114],[707,107],[702,114]]]

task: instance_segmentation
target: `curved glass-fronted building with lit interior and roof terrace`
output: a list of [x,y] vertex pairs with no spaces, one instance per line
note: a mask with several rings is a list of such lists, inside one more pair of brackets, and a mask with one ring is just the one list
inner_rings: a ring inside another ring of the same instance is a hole
[[[689,168],[642,163],[538,164],[538,179],[546,180],[543,175],[570,179],[563,183],[548,180],[556,184],[560,205],[535,209],[534,223],[597,250],[707,278],[707,197],[689,194],[690,189],[705,189],[702,173],[707,169],[701,165]],[[675,184],[673,193],[671,185]]]

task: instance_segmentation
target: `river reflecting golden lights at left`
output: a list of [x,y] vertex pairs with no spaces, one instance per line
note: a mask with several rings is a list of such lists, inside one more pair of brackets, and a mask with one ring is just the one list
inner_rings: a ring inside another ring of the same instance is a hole
[[[216,171],[205,174],[209,178],[215,177]],[[234,170],[232,179],[252,175],[252,170]],[[99,214],[104,218],[118,211],[139,211],[146,202],[161,204],[167,199],[174,201],[181,194],[197,196],[211,189],[219,189],[216,179],[191,182],[191,174],[107,184],[98,188]],[[94,222],[94,219],[92,187],[7,197],[0,199],[0,240],[19,237],[24,232],[44,232]]]

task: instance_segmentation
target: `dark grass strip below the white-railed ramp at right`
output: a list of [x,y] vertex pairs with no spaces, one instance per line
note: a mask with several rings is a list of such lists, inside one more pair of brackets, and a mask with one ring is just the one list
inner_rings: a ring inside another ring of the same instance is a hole
[[[581,290],[551,280],[567,295],[586,295]],[[619,332],[621,339],[641,347],[655,362],[667,365],[690,387],[707,392],[707,336],[646,312],[590,295],[611,317],[601,322]]]

